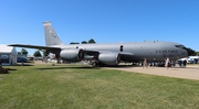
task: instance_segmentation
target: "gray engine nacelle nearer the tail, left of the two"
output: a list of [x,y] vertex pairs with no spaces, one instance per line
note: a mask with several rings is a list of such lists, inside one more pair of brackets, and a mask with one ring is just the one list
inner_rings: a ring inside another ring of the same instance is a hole
[[60,52],[60,57],[70,62],[80,62],[84,58],[84,51],[78,48],[62,50]]

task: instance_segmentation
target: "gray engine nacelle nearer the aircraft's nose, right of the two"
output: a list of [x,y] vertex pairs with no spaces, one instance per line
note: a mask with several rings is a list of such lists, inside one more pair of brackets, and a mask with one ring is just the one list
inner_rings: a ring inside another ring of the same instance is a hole
[[121,62],[121,55],[118,53],[102,53],[98,55],[98,61],[106,65],[117,65]]

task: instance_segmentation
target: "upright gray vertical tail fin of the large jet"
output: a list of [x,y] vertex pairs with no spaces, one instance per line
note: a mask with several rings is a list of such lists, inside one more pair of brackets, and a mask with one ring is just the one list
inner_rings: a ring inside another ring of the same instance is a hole
[[51,25],[51,22],[43,22],[44,34],[45,34],[45,45],[64,45],[64,43],[59,39],[56,32]]

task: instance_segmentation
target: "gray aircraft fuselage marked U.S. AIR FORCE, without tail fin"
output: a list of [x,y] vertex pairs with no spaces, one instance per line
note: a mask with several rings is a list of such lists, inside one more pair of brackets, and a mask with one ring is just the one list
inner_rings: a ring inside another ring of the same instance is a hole
[[[172,42],[135,42],[135,43],[108,43],[108,44],[72,44],[63,45],[62,50],[82,48],[90,51],[98,51],[100,53],[114,52],[114,53],[132,53],[133,56],[122,56],[121,61],[138,62],[144,57],[147,61],[165,61],[167,57],[170,61],[176,61],[181,57],[188,56],[185,48],[177,47],[178,43]],[[182,45],[181,45],[182,46]]]

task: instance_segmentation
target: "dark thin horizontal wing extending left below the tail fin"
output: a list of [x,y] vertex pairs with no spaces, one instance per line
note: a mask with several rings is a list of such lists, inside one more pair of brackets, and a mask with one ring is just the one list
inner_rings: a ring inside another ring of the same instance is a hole
[[38,48],[38,50],[61,50],[60,47],[38,46],[38,45],[25,45],[25,44],[10,44],[10,45],[8,45],[8,46],[27,47],[27,48]]

